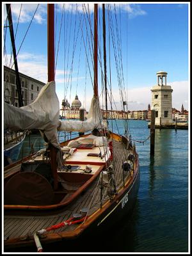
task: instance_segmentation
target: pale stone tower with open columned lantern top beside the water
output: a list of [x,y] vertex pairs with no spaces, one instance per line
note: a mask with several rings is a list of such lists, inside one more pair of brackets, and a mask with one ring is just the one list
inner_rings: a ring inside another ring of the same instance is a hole
[[166,85],[167,72],[157,72],[157,84],[152,87],[152,107],[156,110],[156,125],[170,125],[172,120],[172,87]]

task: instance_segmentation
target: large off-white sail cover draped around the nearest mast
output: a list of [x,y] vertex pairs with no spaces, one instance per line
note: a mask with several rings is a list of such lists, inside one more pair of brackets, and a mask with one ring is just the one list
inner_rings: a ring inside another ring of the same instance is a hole
[[49,143],[60,148],[57,136],[57,125],[60,116],[60,103],[55,92],[55,82],[49,82],[42,88],[38,97],[21,108],[4,102],[4,129],[44,130]]

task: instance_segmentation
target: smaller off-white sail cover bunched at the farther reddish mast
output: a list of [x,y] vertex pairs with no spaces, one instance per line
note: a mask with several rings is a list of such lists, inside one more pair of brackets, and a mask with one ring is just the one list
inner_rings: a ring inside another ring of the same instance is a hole
[[86,121],[59,120],[58,130],[67,132],[88,132],[95,128],[100,129],[102,127],[104,127],[104,124],[102,122],[99,99],[97,97],[93,97]]

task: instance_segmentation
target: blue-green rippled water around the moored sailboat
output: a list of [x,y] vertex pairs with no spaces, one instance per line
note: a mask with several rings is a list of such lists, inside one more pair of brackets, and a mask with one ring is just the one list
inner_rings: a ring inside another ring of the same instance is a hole
[[[109,120],[109,127],[112,124],[114,132],[123,134],[124,120]],[[147,125],[145,121],[129,121],[132,139],[147,139]],[[35,141],[35,135],[32,137]],[[108,238],[98,239],[97,246],[96,241],[90,247],[84,241],[79,252],[188,252],[188,130],[156,129],[154,157],[150,157],[150,140],[144,145],[135,143],[141,179],[131,217],[124,218],[114,230],[111,223],[113,232],[106,230]],[[36,148],[40,144],[38,137]],[[65,252],[65,246],[55,252]]]

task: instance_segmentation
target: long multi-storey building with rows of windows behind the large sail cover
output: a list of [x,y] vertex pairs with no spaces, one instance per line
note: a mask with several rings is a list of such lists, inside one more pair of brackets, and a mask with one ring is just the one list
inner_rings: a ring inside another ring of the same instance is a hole
[[[45,85],[33,77],[19,72],[24,106],[31,104]],[[4,66],[4,102],[19,107],[15,70]]]

